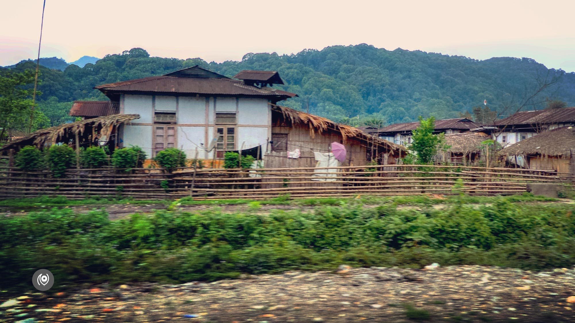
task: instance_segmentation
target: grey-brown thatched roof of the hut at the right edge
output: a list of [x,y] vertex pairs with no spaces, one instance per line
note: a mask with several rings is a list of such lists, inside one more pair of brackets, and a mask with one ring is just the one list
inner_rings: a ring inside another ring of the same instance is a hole
[[531,138],[519,141],[501,149],[501,154],[530,155],[539,153],[547,156],[568,155],[569,149],[575,148],[575,127],[563,127],[536,134]]

